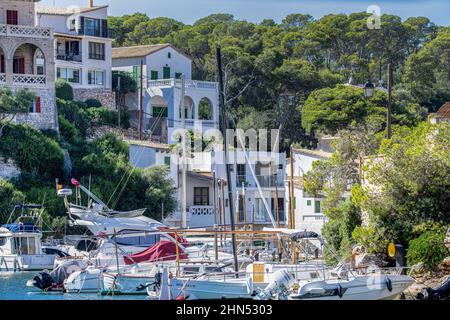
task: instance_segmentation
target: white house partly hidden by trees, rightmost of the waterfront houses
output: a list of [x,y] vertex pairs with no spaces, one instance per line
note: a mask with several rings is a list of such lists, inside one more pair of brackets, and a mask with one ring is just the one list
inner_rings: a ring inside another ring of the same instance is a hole
[[[300,230],[314,231],[319,234],[326,222],[326,217],[322,211],[323,197],[308,194],[303,187],[303,176],[312,169],[313,162],[321,161],[331,157],[331,153],[323,150],[292,149],[294,163],[294,212],[295,228]],[[290,180],[291,158],[286,161],[286,183]],[[289,186],[286,185],[286,199],[290,199]],[[289,212],[289,202],[286,202],[286,212]]]

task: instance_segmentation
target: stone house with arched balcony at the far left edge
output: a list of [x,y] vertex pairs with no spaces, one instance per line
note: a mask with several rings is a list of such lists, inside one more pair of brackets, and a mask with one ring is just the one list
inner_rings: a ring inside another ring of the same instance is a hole
[[30,112],[17,115],[16,122],[57,130],[54,38],[51,28],[35,25],[38,1],[0,1],[0,87],[36,95]]

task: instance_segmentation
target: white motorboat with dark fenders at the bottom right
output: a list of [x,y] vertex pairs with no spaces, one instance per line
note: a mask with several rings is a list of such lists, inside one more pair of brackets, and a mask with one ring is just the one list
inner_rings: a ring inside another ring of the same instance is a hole
[[374,273],[348,280],[330,279],[300,283],[289,300],[392,300],[414,283],[407,275]]

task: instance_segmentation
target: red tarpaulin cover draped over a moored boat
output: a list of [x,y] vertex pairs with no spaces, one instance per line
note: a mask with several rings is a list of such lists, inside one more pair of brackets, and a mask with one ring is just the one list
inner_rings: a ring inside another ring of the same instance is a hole
[[[180,259],[187,259],[188,255],[178,246],[178,255]],[[176,260],[176,244],[172,241],[160,241],[144,251],[125,256],[123,260],[126,264],[139,262],[154,262]]]

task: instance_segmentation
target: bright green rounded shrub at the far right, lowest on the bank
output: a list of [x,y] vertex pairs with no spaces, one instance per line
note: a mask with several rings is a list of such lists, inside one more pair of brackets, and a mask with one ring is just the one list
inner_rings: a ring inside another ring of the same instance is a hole
[[418,238],[409,241],[406,259],[409,265],[423,262],[427,270],[434,270],[447,255],[444,245],[445,232],[443,230],[426,231]]

